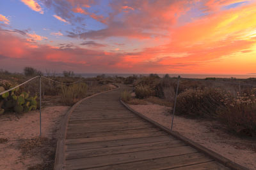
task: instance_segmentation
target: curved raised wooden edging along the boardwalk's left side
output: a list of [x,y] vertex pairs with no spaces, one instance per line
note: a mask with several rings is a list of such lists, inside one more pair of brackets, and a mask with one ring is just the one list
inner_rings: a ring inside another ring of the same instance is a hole
[[[115,85],[115,84],[113,84]],[[63,122],[61,123],[61,129],[58,132],[57,138],[57,146],[56,146],[56,153],[55,153],[55,160],[54,160],[54,170],[61,170],[65,169],[65,140],[67,136],[67,126],[68,126],[68,120],[69,117],[76,108],[77,105],[79,105],[81,102],[83,102],[86,99],[89,99],[94,96],[98,96],[99,94],[103,94],[106,92],[111,92],[113,90],[119,89],[118,85],[115,85],[115,89],[107,90],[104,92],[99,92],[97,94],[93,94],[92,96],[85,97],[84,99],[81,99],[76,104],[74,104],[66,113],[65,117],[63,118]]]

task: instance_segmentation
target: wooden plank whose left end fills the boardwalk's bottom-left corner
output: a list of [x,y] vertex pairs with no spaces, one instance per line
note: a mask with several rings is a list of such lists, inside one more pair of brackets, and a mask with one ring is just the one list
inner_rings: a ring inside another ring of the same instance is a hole
[[92,167],[108,166],[113,164],[123,164],[128,162],[157,159],[161,157],[171,157],[175,155],[184,155],[188,153],[196,153],[197,151],[190,146],[180,146],[175,148],[162,148],[158,150],[147,150],[131,153],[120,153],[116,155],[70,159],[66,160],[67,169],[85,169]]

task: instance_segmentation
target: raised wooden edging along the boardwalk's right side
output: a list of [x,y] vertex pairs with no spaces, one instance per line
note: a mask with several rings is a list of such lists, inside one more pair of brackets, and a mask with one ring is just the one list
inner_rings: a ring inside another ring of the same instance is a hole
[[224,166],[227,166],[231,169],[237,169],[237,170],[242,170],[242,169],[248,169],[246,167],[243,167],[235,162],[232,162],[231,160],[221,156],[220,154],[213,152],[212,150],[209,150],[208,148],[205,148],[202,145],[199,145],[198,143],[195,143],[194,141],[191,141],[190,139],[182,136],[179,134],[179,132],[176,131],[171,131],[170,129],[164,127],[161,124],[158,124],[157,122],[155,122],[154,120],[145,117],[144,115],[142,115],[141,113],[139,113],[138,111],[133,110],[132,108],[130,108],[130,106],[128,106],[126,103],[124,103],[124,101],[122,101],[122,98],[120,97],[120,102],[130,111],[132,111],[133,113],[135,113],[136,115],[140,116],[141,118],[144,118],[145,120],[147,120],[148,122],[156,125],[157,127],[159,127],[160,129],[163,129],[164,131],[168,132],[169,134],[171,134],[172,136],[174,136],[175,138],[178,138],[182,141],[184,141],[185,143],[187,143],[189,146],[192,146],[193,148],[196,148],[197,150],[200,150],[200,152],[205,153],[206,155],[208,155],[209,157],[211,157],[214,160],[217,160],[218,162],[221,162],[221,164],[223,164]]

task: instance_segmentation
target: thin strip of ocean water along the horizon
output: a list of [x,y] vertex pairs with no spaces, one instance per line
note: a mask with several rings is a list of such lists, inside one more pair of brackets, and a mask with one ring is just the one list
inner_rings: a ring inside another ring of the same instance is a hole
[[[102,73],[103,74],[103,73]],[[102,75],[100,73],[81,73],[81,75],[84,78],[92,78],[95,76]],[[128,77],[132,76],[134,74],[118,74],[118,73],[111,73],[111,74],[105,74],[105,76],[122,76],[122,77]],[[135,74],[137,76],[148,76],[149,74]],[[165,74],[158,74],[158,76],[163,77]],[[256,78],[256,74],[169,74],[170,77],[177,77],[180,76],[182,78]]]

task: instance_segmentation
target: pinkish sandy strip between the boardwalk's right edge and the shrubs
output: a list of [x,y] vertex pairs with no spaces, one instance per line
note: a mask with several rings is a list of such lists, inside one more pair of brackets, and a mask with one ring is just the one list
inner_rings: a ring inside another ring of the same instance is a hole
[[[172,122],[171,108],[158,104],[129,104],[129,106],[159,124],[170,128],[170,122]],[[223,155],[223,157],[227,157],[241,166],[256,169],[255,140],[241,139],[228,134],[223,129],[223,125],[215,121],[194,120],[175,116],[173,122],[173,131],[179,132],[186,138]]]

